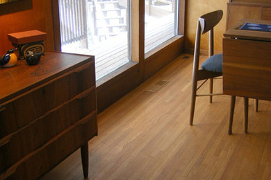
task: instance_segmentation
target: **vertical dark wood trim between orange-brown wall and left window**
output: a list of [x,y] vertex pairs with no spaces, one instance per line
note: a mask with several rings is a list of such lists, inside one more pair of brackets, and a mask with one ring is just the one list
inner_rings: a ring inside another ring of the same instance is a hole
[[54,30],[55,50],[56,51],[61,51],[58,1],[51,0],[51,10],[52,10],[52,18],[53,18],[53,30]]

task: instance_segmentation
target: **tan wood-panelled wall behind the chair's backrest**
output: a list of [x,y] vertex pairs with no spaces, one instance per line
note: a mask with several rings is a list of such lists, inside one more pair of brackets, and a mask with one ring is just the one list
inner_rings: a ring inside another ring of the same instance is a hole
[[[186,0],[186,51],[192,53],[198,17],[213,10],[223,10],[223,17],[214,29],[215,51],[222,51],[222,38],[226,30],[227,3],[229,0]],[[208,50],[208,33],[202,36],[201,49]]]

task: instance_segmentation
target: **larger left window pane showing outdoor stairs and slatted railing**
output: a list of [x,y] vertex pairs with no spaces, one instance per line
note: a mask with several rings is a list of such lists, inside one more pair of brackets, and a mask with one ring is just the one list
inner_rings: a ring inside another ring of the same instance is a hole
[[59,0],[61,49],[95,55],[96,78],[129,62],[129,3]]

